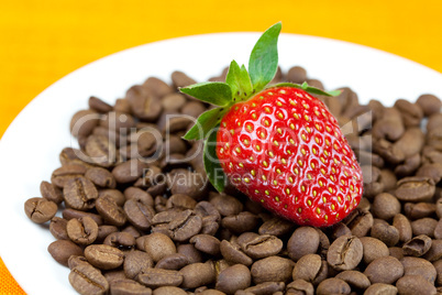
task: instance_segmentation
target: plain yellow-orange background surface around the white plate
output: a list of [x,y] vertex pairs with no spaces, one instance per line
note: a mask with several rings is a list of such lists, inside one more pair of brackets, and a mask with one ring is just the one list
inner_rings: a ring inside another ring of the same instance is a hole
[[[442,72],[441,13],[441,0],[3,0],[0,136],[42,90],[102,56],[176,36],[262,32],[277,21],[285,33],[364,44]],[[0,294],[22,294],[1,261],[0,282]]]

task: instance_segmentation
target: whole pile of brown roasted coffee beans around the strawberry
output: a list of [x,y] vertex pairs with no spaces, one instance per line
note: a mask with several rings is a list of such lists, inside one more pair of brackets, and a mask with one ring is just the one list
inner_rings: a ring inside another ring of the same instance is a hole
[[[225,72],[211,80],[223,80]],[[301,67],[274,81],[307,81]],[[298,227],[203,171],[201,142],[181,136],[210,106],[178,92],[196,83],[151,77],[113,106],[76,112],[79,149],[59,154],[27,217],[49,222],[48,252],[80,294],[442,293],[441,100],[361,105],[342,88],[320,97],[338,118],[364,176],[342,222]],[[60,212],[57,216],[56,212]],[[60,216],[60,217],[58,217]]]

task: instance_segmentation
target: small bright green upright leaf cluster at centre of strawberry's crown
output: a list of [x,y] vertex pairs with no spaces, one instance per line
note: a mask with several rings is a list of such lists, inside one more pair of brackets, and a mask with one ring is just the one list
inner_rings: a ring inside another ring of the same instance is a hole
[[232,90],[233,100],[241,101],[247,99],[252,95],[252,81],[248,76],[247,69],[244,65],[240,66],[235,61],[230,63],[225,83],[230,85]]

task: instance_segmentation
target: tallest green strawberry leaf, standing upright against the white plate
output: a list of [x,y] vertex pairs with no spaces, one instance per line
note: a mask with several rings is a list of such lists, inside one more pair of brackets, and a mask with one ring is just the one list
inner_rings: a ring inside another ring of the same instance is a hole
[[256,42],[248,59],[248,73],[255,92],[261,91],[275,77],[278,69],[278,35],[281,23],[272,25]]

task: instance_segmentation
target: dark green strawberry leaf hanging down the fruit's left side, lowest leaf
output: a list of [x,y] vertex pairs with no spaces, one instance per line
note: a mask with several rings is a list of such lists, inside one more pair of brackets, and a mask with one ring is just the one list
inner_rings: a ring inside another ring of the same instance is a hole
[[223,192],[224,186],[226,184],[226,175],[224,174],[221,165],[220,160],[217,156],[217,131],[219,130],[220,125],[218,124],[210,131],[209,136],[205,142],[205,170],[207,176],[209,177],[210,183],[218,192]]

